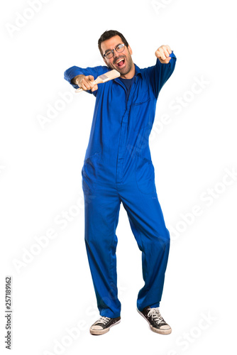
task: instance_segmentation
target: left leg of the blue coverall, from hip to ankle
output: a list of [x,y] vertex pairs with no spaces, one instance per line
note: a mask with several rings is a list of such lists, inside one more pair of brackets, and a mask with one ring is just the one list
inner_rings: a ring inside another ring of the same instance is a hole
[[[85,185],[85,184],[84,184]],[[116,226],[121,200],[113,187],[84,187],[85,242],[97,306],[101,316],[120,316],[116,273]]]

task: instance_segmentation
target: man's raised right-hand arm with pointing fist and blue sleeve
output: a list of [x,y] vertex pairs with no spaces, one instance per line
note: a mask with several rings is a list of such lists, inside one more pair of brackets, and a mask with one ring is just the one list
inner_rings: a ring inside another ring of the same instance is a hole
[[169,45],[161,45],[155,51],[155,57],[157,58],[156,64],[147,68],[147,75],[155,97],[158,97],[160,89],[175,70],[176,56]]

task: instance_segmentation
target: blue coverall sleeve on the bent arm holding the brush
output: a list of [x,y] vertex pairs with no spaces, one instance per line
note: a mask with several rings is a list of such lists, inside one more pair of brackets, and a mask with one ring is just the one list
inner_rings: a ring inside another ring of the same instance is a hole
[[[94,79],[97,79],[97,77],[99,77],[99,75],[104,74],[105,72],[109,71],[109,67],[103,66],[103,65],[99,65],[98,67],[87,67],[87,68],[82,68],[82,67],[70,67],[69,69],[65,70],[64,73],[64,78],[65,80],[67,80],[67,82],[69,82],[72,87],[74,87],[75,89],[78,89],[78,85],[75,85],[72,83],[72,79],[74,77],[76,77],[77,75],[92,75],[94,77]],[[89,94],[95,94],[97,91],[92,92],[92,90],[87,90],[87,92],[89,92]]]

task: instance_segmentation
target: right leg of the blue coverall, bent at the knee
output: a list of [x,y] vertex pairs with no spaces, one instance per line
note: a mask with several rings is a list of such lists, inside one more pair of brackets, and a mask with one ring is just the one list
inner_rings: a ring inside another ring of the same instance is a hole
[[131,180],[119,191],[133,235],[142,251],[145,285],[138,293],[138,310],[147,306],[159,307],[170,250],[170,233],[165,226],[156,190],[145,194]]

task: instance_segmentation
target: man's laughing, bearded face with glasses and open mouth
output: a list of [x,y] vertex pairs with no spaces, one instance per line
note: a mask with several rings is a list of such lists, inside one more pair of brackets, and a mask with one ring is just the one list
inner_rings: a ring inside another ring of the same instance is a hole
[[[117,45],[123,43],[119,35],[115,35],[112,38],[109,38],[109,40],[104,40],[101,43],[101,50],[104,55],[107,51],[116,48]],[[124,50],[121,53],[116,52],[114,50],[114,55],[112,58],[106,58],[104,57],[104,62],[108,67],[111,69],[116,69],[118,72],[120,72],[121,75],[126,75],[128,72],[131,71],[133,68],[133,60],[131,58],[131,55],[133,54],[130,45],[126,47],[124,46]]]

